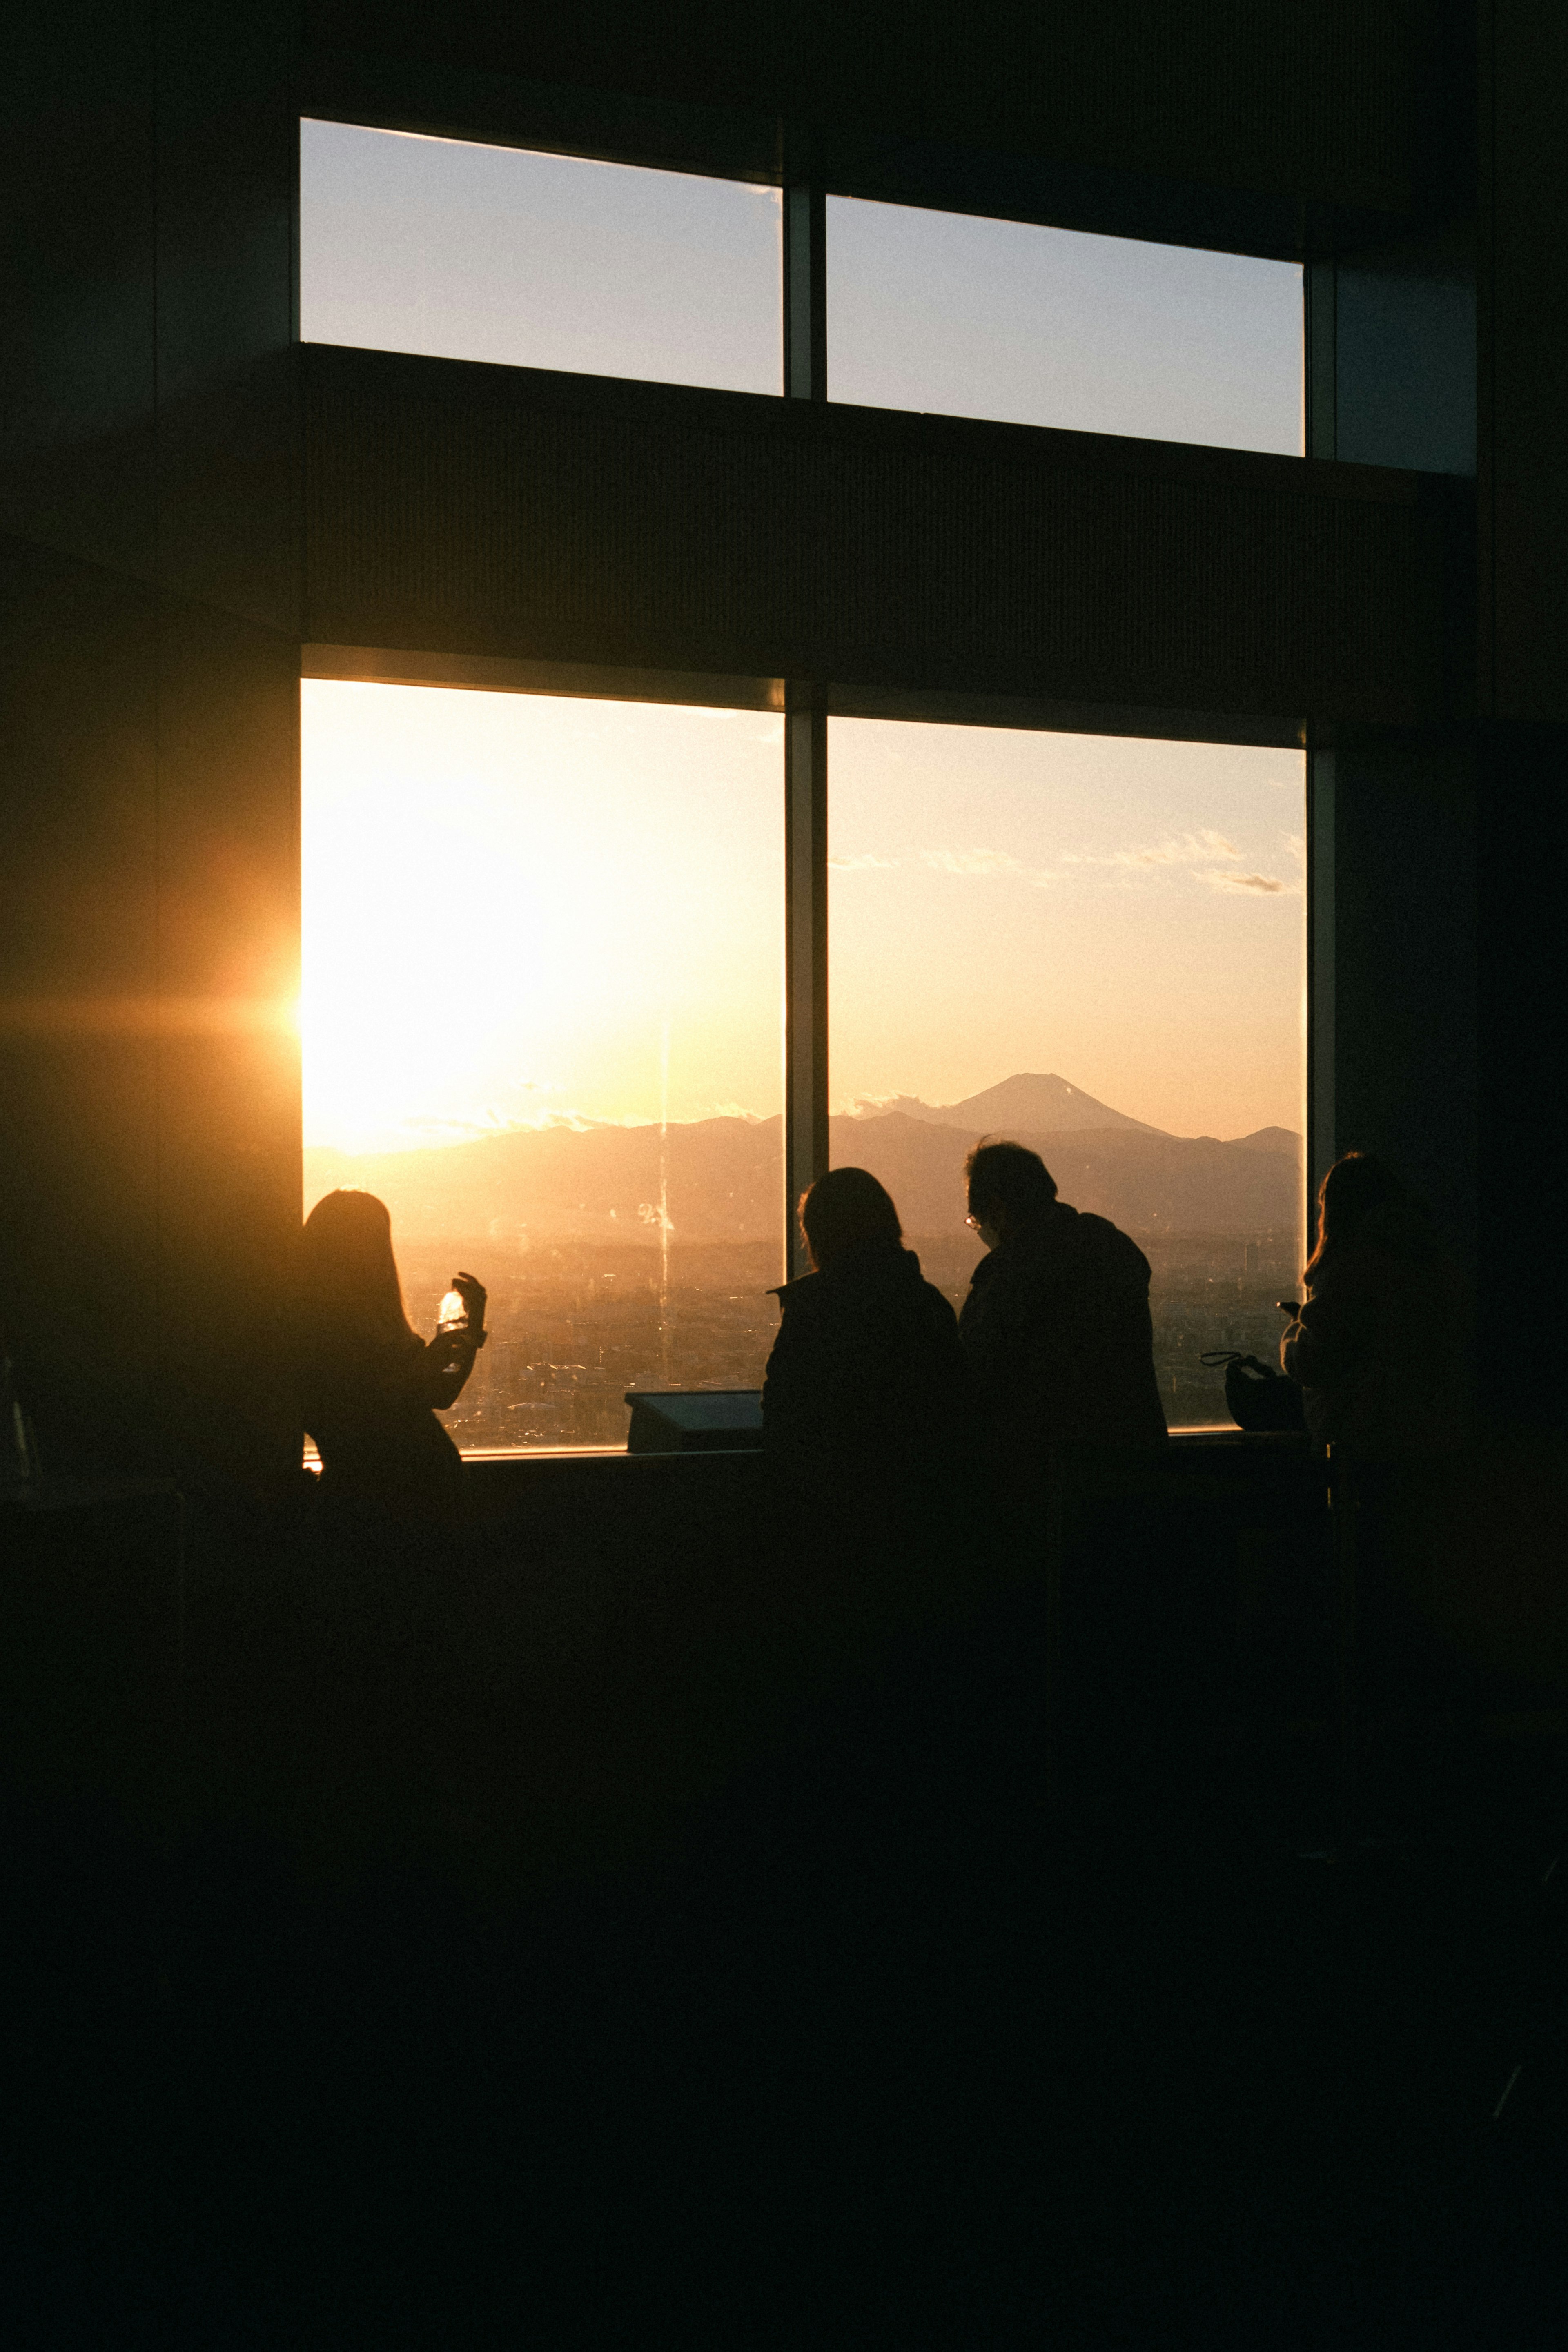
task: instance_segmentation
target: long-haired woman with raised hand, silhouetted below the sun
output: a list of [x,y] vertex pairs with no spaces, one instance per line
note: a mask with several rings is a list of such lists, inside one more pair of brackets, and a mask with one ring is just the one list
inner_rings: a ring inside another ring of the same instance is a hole
[[423,1341],[402,1310],[393,1221],[374,1192],[327,1192],[306,1218],[301,1390],[322,1496],[393,1519],[449,1519],[461,1456],[435,1418],[484,1345],[484,1287],[456,1275],[463,1329]]

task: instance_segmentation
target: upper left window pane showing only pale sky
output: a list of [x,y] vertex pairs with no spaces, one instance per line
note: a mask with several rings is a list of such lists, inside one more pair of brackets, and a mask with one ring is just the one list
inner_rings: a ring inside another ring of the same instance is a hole
[[780,198],[731,179],[301,122],[308,343],[780,388]]

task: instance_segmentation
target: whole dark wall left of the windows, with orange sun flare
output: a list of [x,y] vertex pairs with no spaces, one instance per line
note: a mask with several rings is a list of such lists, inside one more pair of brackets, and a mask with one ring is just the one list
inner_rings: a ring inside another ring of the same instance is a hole
[[0,1312],[45,1468],[266,1484],[296,1442],[292,49],[266,9],[16,33]]

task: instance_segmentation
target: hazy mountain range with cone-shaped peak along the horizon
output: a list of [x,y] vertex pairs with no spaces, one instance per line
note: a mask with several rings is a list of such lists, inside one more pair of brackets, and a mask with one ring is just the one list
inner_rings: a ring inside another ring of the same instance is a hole
[[[891,1103],[830,1120],[835,1167],[863,1167],[910,1237],[964,1221],[964,1155],[1006,1134],[1037,1150],[1060,1197],[1140,1237],[1279,1232],[1300,1216],[1300,1136],[1168,1136],[1063,1077],[1016,1075],[961,1103]],[[411,1152],[306,1152],[306,1200],[378,1192],[397,1240],[750,1242],[778,1232],[780,1120],[515,1127]]]

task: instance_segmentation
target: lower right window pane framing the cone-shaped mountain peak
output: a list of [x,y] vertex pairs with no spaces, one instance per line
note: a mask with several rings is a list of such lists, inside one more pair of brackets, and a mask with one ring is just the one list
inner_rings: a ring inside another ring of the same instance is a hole
[[1173,1428],[1302,1263],[1300,753],[835,720],[832,1157],[961,1305],[964,1152],[1041,1152],[1154,1268]]

